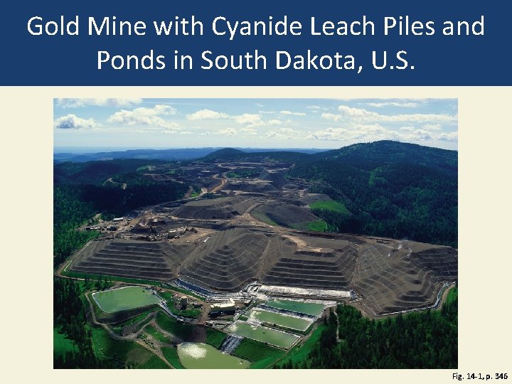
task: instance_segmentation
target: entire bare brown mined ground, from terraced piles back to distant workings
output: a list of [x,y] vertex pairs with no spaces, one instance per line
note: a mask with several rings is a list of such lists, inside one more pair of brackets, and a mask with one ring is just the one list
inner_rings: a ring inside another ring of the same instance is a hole
[[[244,164],[244,169],[261,166]],[[181,277],[218,292],[237,292],[254,281],[353,289],[361,307],[373,314],[434,304],[444,282],[457,280],[458,252],[452,247],[286,228],[318,220],[305,204],[329,198],[305,193],[305,181],[284,179],[275,168],[259,178],[227,180],[226,169],[235,170],[235,164],[219,164],[218,174],[210,166],[213,187],[204,187],[201,196],[226,191],[225,197],[146,207],[132,220],[146,240],[124,240],[134,233],[122,228],[116,238],[90,242],[63,268],[164,282]],[[186,171],[204,178],[200,166]],[[283,186],[298,192],[284,196]],[[238,194],[228,196],[235,189]],[[167,238],[169,230],[185,227],[193,230]]]

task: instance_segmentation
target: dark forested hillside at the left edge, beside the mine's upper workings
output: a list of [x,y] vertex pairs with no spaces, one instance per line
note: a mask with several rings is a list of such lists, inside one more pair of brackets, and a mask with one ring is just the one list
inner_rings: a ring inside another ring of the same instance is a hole
[[120,216],[142,206],[181,198],[188,190],[185,183],[156,183],[142,177],[147,166],[159,164],[163,162],[137,159],[55,164],[54,264],[96,235],[76,230],[96,213],[102,213],[103,218]]

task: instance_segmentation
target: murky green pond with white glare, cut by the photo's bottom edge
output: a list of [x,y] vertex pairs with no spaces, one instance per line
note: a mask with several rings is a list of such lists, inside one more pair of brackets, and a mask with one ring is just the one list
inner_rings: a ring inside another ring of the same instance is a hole
[[181,365],[188,369],[243,369],[250,366],[249,361],[222,353],[204,343],[178,344],[178,356]]

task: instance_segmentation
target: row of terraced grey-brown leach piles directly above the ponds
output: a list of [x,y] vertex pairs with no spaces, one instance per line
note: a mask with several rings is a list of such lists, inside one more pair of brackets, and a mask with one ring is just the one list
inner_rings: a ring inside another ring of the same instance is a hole
[[180,277],[217,292],[249,282],[353,289],[366,308],[385,314],[434,304],[457,280],[452,247],[362,236],[276,233],[265,228],[213,231],[188,242],[99,240],[70,269],[169,281]]

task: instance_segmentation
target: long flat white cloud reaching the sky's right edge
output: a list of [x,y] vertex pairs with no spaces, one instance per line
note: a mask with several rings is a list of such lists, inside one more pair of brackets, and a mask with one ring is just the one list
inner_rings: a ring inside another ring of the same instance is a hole
[[457,122],[457,114],[379,114],[365,110],[363,108],[348,107],[340,105],[338,107],[340,114],[323,113],[324,119],[338,122],[355,121],[358,123],[366,122]]

